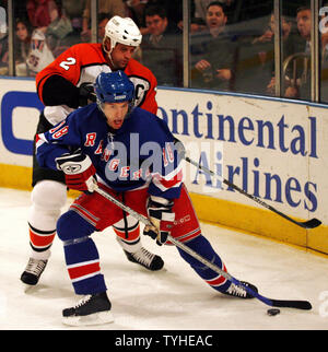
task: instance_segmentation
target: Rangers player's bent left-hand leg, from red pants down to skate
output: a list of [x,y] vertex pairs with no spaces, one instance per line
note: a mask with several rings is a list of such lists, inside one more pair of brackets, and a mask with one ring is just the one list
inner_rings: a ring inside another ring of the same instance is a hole
[[63,242],[68,273],[75,294],[84,295],[75,306],[63,309],[65,324],[93,325],[113,321],[99,255],[91,235],[119,219],[117,207],[98,193],[80,196],[69,211],[59,218],[57,234]]

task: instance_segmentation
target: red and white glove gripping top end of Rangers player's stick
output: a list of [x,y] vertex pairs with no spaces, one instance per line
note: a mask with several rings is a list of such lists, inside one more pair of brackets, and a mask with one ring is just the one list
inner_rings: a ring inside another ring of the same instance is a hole
[[96,179],[93,175],[96,171],[89,155],[81,153],[63,154],[56,159],[56,164],[57,168],[65,173],[68,188],[94,191]]

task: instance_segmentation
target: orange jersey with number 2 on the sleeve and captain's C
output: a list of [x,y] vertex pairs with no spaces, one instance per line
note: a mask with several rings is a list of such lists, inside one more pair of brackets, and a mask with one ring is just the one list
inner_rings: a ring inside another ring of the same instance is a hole
[[[37,94],[43,102],[43,86],[47,78],[57,74],[75,86],[84,82],[95,82],[101,72],[110,72],[102,44],[77,44],[62,52],[36,75]],[[157,112],[155,99],[157,81],[154,74],[140,62],[130,59],[125,72],[136,87],[136,106],[153,114]]]

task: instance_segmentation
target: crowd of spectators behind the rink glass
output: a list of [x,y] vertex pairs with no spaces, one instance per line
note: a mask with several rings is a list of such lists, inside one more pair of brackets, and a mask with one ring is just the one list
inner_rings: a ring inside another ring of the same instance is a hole
[[[282,15],[283,60],[295,52],[309,52],[311,9],[298,7],[309,1],[297,1]],[[91,0],[13,3],[15,75],[33,77],[68,47],[91,42]],[[248,4],[247,11],[241,11],[241,3]],[[190,1],[191,87],[274,95],[272,3]],[[0,5],[7,8],[7,1]],[[257,13],[260,21],[255,21]],[[132,17],[140,27],[143,39],[136,59],[155,73],[159,85],[183,86],[183,1],[99,0],[98,42],[107,21],[117,14]],[[323,35],[324,63],[327,38]],[[311,71],[304,75],[304,68],[293,64],[285,68],[284,96],[309,98]],[[0,34],[0,74],[7,73],[8,37]]]

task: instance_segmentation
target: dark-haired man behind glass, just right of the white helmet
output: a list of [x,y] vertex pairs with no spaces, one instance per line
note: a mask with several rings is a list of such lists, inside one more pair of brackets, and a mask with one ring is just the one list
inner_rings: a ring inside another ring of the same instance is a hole
[[154,72],[159,85],[181,86],[181,33],[168,21],[163,8],[149,7],[144,16],[150,34],[141,44],[142,63]]

